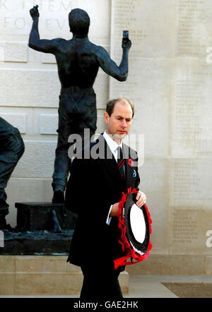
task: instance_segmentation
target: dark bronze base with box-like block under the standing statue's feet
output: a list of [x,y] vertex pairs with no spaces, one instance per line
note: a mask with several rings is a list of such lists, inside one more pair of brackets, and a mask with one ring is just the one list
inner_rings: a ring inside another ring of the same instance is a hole
[[[17,227],[3,230],[0,255],[68,255],[77,215],[63,204],[16,203]],[[54,228],[55,215],[61,232]]]

